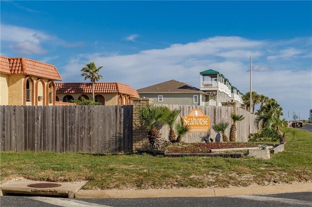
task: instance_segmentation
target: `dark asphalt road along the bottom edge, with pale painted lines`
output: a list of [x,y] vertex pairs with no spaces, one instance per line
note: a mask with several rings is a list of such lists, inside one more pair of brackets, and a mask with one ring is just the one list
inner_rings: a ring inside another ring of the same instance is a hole
[[67,199],[2,196],[1,207],[312,207],[312,192],[230,197]]

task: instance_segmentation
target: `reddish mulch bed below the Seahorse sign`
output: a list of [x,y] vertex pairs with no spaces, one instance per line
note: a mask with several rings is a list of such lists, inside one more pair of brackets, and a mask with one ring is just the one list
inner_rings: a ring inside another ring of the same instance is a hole
[[255,143],[212,142],[212,143],[178,143],[165,149],[166,153],[210,153],[212,149],[257,147]]

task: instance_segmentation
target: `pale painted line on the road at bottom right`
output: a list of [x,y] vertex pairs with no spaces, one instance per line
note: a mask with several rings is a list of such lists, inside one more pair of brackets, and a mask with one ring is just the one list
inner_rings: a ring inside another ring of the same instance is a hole
[[242,198],[254,201],[268,201],[268,202],[279,202],[285,203],[290,205],[305,205],[305,206],[312,206],[312,202],[310,201],[300,201],[296,199],[289,199],[289,198],[275,198],[275,197],[265,197],[259,195],[237,195],[237,196],[227,196],[230,198]]

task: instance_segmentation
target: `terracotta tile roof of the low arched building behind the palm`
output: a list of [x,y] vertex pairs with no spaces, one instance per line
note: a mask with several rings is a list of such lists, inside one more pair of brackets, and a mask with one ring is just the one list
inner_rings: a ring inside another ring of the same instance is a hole
[[[55,84],[57,93],[92,93],[91,83],[57,83]],[[120,83],[95,83],[95,93],[120,93],[127,94],[134,98],[139,98],[136,89]]]

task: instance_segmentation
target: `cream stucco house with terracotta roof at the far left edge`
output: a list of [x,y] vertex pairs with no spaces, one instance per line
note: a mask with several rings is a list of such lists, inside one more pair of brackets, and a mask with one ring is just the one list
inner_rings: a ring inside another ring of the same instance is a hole
[[0,105],[55,105],[55,66],[24,57],[0,55]]

